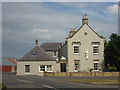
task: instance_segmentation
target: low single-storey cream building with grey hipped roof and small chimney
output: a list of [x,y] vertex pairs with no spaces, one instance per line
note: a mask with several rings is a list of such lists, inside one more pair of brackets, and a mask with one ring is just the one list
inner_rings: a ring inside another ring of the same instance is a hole
[[41,75],[43,72],[58,72],[58,63],[41,47],[36,46],[17,61],[17,75]]

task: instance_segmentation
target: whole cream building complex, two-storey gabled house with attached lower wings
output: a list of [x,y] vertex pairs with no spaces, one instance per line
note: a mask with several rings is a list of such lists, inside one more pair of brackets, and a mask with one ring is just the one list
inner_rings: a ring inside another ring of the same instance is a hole
[[70,29],[65,43],[43,43],[17,61],[18,75],[42,75],[43,72],[94,72],[104,70],[104,41],[88,24],[85,14],[82,26]]

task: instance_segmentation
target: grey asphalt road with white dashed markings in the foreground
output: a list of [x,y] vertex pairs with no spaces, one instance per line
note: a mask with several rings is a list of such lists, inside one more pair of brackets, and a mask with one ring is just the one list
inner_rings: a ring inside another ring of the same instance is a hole
[[[67,77],[41,77],[41,76],[17,76],[3,75],[3,83],[8,88],[47,88],[60,90],[65,88],[118,88],[118,85],[93,85],[63,81]],[[70,78],[70,77],[69,77]],[[71,77],[75,78],[75,77]],[[78,78],[78,77],[76,77]],[[115,89],[114,89],[115,90]]]

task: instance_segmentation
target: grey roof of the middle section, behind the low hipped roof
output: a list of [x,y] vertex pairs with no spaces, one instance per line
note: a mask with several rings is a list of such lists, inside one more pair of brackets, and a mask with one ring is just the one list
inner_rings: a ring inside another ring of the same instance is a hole
[[62,42],[61,43],[42,43],[41,44],[41,48],[43,48],[45,51],[58,51],[59,48],[62,46]]

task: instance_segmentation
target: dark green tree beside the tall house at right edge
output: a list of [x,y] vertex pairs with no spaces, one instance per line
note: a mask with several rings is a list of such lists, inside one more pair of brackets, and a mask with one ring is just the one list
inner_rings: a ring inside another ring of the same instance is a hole
[[[120,71],[120,35],[111,34],[110,40],[105,42],[105,66],[116,67]],[[114,69],[113,69],[114,71]]]

